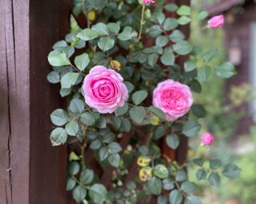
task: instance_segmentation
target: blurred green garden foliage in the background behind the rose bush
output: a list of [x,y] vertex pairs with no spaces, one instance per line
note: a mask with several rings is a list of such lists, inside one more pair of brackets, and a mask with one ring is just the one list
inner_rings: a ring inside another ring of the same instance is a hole
[[[194,12],[214,2],[218,1],[192,0]],[[192,22],[191,25],[190,41],[192,44],[200,46],[203,50],[215,47],[222,53],[222,58],[216,58],[212,62],[213,65],[218,65],[226,59],[223,32],[222,29],[214,30],[214,32],[210,29],[202,29],[202,25],[198,22]],[[212,132],[215,135],[215,141],[210,149],[202,147],[196,150],[198,139],[191,140],[192,151],[189,152],[189,157],[195,155],[210,157],[208,159],[221,159],[222,163],[227,163],[231,159],[242,168],[240,179],[234,181],[222,179],[220,188],[214,188],[208,182],[198,182],[195,177],[198,167],[189,167],[190,179],[200,186],[198,191],[204,198],[202,203],[256,203],[256,127],[251,127],[246,135],[236,134],[238,123],[246,114],[242,105],[252,100],[253,96],[255,96],[254,88],[243,82],[239,86],[231,87],[227,92],[225,80],[214,76],[214,73],[210,80],[202,85],[202,94],[194,96],[196,102],[205,105],[208,113],[201,121],[202,132]]]

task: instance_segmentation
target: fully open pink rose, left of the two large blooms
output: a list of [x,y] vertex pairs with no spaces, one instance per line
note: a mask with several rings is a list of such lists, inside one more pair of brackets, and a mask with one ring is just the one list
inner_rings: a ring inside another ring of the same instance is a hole
[[125,104],[128,90],[119,73],[95,66],[86,76],[82,89],[86,104],[100,113],[112,113]]

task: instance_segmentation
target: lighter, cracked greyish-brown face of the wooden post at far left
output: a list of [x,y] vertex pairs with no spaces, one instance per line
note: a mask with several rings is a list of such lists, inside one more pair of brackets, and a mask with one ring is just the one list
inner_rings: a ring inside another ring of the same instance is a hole
[[[6,104],[1,111],[1,183],[5,187],[1,203],[29,202],[29,21],[28,1],[18,2],[14,19],[14,1],[1,0],[1,92]],[[20,33],[19,36],[17,34]],[[2,107],[2,106],[1,106]],[[22,190],[22,194],[20,193]]]

